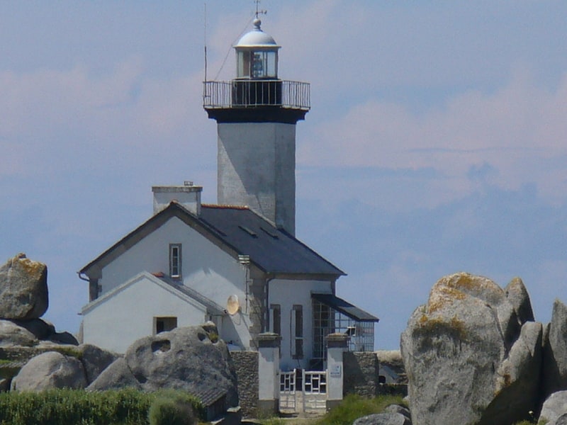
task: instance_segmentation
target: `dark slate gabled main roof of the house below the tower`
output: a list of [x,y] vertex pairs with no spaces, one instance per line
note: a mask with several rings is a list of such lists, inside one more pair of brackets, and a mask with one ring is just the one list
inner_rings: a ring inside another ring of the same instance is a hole
[[113,244],[79,273],[88,276],[94,268],[103,268],[172,217],[179,217],[225,251],[249,256],[250,262],[265,273],[328,275],[332,278],[345,274],[303,242],[249,208],[202,205],[201,215],[196,216],[175,201]]

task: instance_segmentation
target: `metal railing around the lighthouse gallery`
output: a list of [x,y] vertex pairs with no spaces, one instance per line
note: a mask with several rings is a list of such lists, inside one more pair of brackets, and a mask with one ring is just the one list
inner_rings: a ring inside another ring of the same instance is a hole
[[308,111],[310,103],[310,85],[301,81],[235,79],[203,83],[206,109],[279,106]]

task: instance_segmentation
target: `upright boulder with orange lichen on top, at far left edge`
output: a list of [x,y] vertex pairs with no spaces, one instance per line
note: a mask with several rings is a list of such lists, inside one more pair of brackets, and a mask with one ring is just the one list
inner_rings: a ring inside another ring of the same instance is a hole
[[0,318],[37,319],[47,305],[45,264],[18,254],[0,266]]

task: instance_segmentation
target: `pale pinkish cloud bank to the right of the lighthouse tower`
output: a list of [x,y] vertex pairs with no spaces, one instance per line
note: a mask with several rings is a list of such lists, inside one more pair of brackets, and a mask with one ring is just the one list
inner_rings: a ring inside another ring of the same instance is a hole
[[[430,195],[439,196],[439,202],[447,201],[447,193],[461,198],[482,183],[519,189],[532,182],[550,202],[563,202],[567,166],[557,159],[567,155],[562,136],[567,115],[561,114],[567,112],[566,85],[567,74],[548,91],[519,72],[492,94],[467,91],[421,114],[396,103],[368,101],[339,120],[311,126],[298,147],[298,163],[432,169],[443,176],[428,181]],[[546,162],[553,166],[543,166]]]

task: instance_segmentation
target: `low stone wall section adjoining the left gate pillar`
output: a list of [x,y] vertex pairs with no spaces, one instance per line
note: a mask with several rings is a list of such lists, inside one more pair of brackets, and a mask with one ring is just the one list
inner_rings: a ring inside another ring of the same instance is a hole
[[242,416],[254,417],[258,407],[258,352],[232,351],[230,356],[236,370]]

